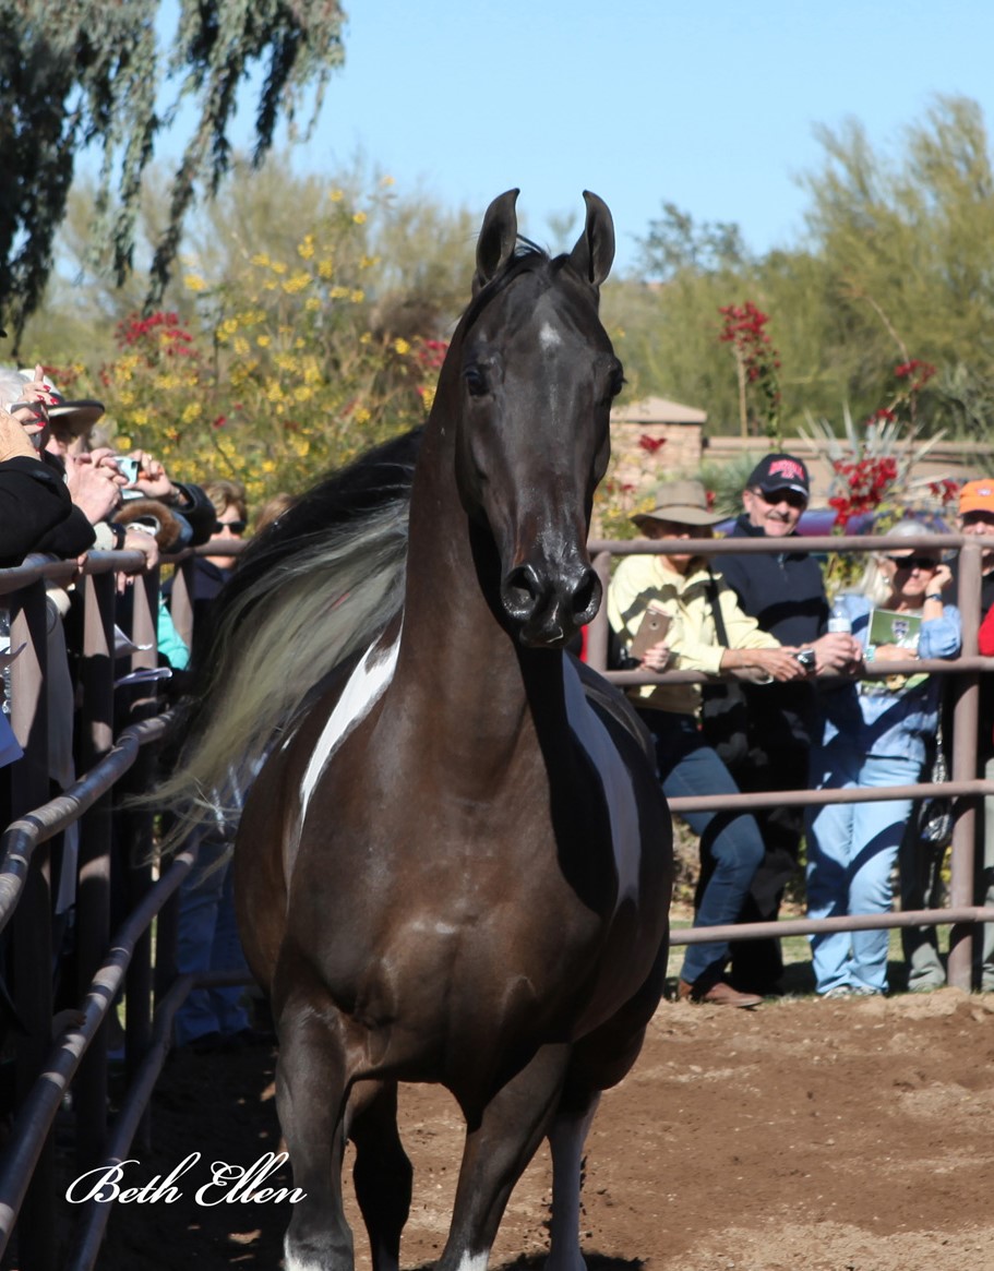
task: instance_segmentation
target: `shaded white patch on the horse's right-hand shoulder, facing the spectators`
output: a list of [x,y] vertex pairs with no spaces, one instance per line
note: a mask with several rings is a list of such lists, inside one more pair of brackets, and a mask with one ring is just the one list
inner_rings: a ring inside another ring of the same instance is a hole
[[586,750],[600,774],[604,798],[611,825],[611,848],[618,871],[618,904],[638,900],[638,868],[642,857],[642,834],[632,773],[618,752],[610,733],[601,723],[583,693],[580,672],[568,657],[563,658],[566,717],[573,736]]

